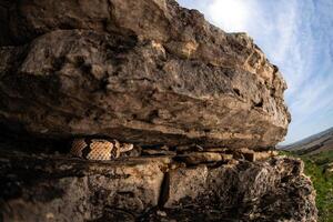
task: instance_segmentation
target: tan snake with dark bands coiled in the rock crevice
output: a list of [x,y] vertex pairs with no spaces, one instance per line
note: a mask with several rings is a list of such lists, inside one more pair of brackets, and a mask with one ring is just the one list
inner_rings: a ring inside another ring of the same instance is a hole
[[74,139],[70,153],[85,160],[114,160],[120,153],[133,149],[131,143],[120,143],[117,140]]

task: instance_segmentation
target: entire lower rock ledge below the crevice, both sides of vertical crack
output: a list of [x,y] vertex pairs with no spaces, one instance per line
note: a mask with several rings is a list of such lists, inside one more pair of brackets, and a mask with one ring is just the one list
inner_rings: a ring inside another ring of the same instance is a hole
[[0,150],[3,221],[315,221],[290,158],[185,167],[172,157],[87,162]]

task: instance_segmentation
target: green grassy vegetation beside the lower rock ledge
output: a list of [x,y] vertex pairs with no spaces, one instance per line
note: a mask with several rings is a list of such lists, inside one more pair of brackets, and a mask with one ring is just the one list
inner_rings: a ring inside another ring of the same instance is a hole
[[[333,222],[333,150],[316,154],[297,154],[282,151],[281,154],[301,158],[316,190],[316,206],[320,222]],[[332,172],[330,172],[332,171]]]

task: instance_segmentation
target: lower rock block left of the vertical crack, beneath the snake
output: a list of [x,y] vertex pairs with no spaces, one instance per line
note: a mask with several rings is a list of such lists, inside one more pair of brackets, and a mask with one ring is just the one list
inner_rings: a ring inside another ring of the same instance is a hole
[[[0,160],[0,178],[6,181],[1,185],[0,200],[6,203],[0,205],[0,219],[2,215],[4,221],[95,220],[108,208],[114,209],[113,213],[121,209],[140,215],[158,205],[164,176],[161,169],[170,162],[161,158],[112,163],[16,155],[2,153]],[[3,178],[6,169],[11,169],[12,176]],[[18,198],[20,193],[24,194]]]

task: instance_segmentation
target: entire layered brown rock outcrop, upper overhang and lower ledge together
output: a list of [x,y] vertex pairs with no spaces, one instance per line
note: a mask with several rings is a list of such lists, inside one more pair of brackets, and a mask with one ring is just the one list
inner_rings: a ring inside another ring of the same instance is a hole
[[0,0],[0,221],[316,221],[246,33],[174,0]]

